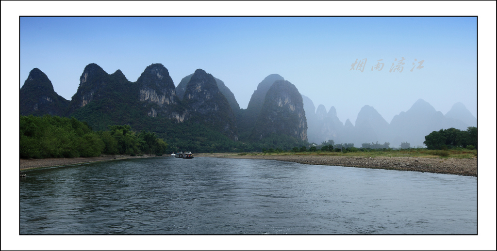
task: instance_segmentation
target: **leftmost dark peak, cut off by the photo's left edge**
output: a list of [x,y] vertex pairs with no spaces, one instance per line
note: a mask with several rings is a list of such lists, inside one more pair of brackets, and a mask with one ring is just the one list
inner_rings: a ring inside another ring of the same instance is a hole
[[20,115],[41,116],[50,114],[63,116],[69,100],[59,96],[47,75],[40,69],[34,68],[19,91]]

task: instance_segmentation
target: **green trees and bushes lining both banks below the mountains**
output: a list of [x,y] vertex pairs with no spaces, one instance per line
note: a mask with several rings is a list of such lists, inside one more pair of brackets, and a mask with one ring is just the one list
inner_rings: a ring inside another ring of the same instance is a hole
[[[392,150],[390,144],[363,143],[360,148],[353,143],[334,144],[328,140],[320,145],[296,141],[284,135],[270,135],[262,142],[246,143],[223,140],[217,135],[210,148],[194,146],[192,142],[177,142],[180,146],[166,143],[155,132],[133,131],[130,125],[109,125],[108,130],[93,131],[85,122],[75,118],[45,115],[20,116],[19,155],[21,158],[49,157],[98,157],[101,154],[155,154],[182,150],[194,152],[356,152]],[[477,127],[467,130],[455,128],[433,131],[425,136],[424,144],[428,149],[477,149]],[[191,145],[190,147],[188,145]],[[204,144],[205,145],[205,144]],[[299,145],[300,147],[297,147]],[[307,148],[309,147],[309,148]],[[193,149],[191,149],[193,148]],[[410,148],[408,142],[401,149]]]

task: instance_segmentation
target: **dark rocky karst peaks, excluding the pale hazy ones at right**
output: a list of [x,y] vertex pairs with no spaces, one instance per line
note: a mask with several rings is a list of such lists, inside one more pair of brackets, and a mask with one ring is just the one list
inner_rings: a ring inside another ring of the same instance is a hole
[[149,65],[136,82],[120,70],[108,74],[90,63],[69,101],[57,95],[48,77],[35,68],[20,89],[20,115],[75,117],[94,130],[131,125],[134,130],[151,130],[169,142],[185,147],[194,144],[204,151],[233,150],[236,145],[229,146],[223,137],[236,142],[240,134],[251,142],[285,135],[280,140],[293,138],[291,142],[307,144],[302,97],[290,82],[276,81],[282,79],[277,74],[266,77],[254,92],[249,109],[240,109],[224,82],[202,69],[185,76],[175,87],[160,63]]

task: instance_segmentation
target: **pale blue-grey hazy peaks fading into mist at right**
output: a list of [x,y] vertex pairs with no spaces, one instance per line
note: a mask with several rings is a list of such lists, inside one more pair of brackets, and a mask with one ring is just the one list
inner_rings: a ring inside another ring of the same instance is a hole
[[336,117],[334,107],[327,114],[323,105],[314,112],[314,104],[304,98],[306,115],[314,118],[308,121],[309,141],[320,144],[328,140],[335,143],[354,143],[361,147],[362,143],[389,142],[390,147],[398,148],[402,142],[408,142],[412,147],[423,146],[424,136],[440,129],[454,127],[466,130],[468,126],[476,126],[476,118],[462,103],[456,103],[452,109],[443,115],[428,102],[419,99],[407,112],[396,115],[387,123],[385,119],[371,106],[365,105],[357,115],[355,125],[347,120],[345,125]]

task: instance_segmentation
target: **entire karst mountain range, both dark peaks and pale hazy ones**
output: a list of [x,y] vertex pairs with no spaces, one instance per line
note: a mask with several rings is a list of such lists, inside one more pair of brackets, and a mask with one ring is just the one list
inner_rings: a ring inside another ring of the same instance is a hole
[[219,138],[213,136],[215,133],[243,142],[276,142],[275,137],[284,135],[278,140],[294,144],[333,140],[360,147],[362,143],[378,141],[390,142],[391,147],[409,142],[414,147],[422,146],[424,136],[433,130],[476,126],[476,118],[462,103],[454,104],[443,115],[422,99],[407,112],[396,115],[390,124],[368,105],[360,110],[355,125],[349,120],[342,123],[334,107],[328,112],[324,105],[316,109],[311,99],[278,74],[265,77],[247,109],[240,109],[222,80],[197,69],[174,86],[168,70],[160,63],[146,67],[136,82],[130,82],[120,70],[108,74],[90,63],[83,69],[71,100],[59,96],[47,75],[34,68],[20,89],[19,105],[20,115],[24,116],[75,117],[95,130],[105,130],[108,125],[131,125],[135,130],[155,131],[170,140],[188,138],[190,144],[195,142],[209,149],[217,147],[207,142],[209,138]]

